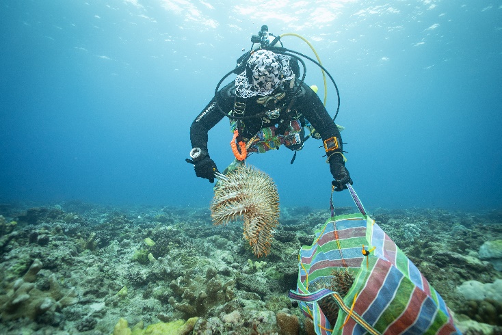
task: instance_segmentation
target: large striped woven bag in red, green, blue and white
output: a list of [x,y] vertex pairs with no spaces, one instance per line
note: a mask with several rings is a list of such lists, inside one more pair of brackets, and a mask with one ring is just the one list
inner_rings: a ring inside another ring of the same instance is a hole
[[369,217],[334,216],[300,248],[297,290],[316,334],[461,334],[442,297]]

